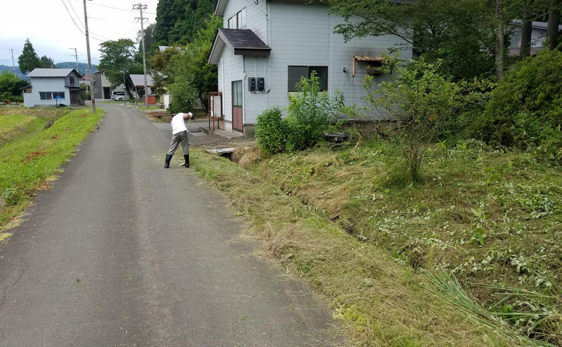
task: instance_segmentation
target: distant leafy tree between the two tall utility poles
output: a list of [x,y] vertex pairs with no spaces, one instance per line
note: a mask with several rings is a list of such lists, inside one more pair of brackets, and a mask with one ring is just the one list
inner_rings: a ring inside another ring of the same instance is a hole
[[[101,54],[98,69],[105,74],[112,88],[119,86],[124,80],[129,80],[129,74],[138,71],[138,63],[134,61],[136,54],[134,45],[135,43],[130,39],[105,41],[100,44]],[[140,69],[142,71],[142,64]],[[125,83],[125,88],[129,97],[132,98],[128,83]]]

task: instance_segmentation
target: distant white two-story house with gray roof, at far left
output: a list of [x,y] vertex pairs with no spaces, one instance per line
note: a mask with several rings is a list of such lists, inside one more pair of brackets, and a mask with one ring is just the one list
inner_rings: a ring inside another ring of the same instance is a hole
[[42,69],[37,68],[27,74],[31,86],[24,89],[25,107],[78,106],[80,99],[81,75],[76,69]]

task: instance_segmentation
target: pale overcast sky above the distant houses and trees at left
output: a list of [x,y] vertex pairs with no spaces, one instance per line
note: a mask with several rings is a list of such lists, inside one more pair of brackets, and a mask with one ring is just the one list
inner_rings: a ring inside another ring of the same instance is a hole
[[[145,4],[145,27],[154,24],[158,0],[87,0],[88,29],[92,64],[99,61],[99,44],[103,41],[132,39],[141,29],[139,11],[133,4]],[[74,62],[77,48],[78,62],[88,62],[84,34],[83,0],[4,0],[0,18],[0,64],[15,66],[29,38],[39,57],[46,55],[56,62]],[[76,24],[74,24],[74,22]]]

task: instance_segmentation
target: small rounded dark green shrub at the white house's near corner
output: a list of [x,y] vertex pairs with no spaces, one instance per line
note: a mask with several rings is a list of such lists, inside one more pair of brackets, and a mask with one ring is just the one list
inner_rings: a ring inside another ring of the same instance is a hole
[[279,107],[261,112],[256,123],[256,140],[259,149],[268,154],[275,154],[285,149],[287,141],[287,121],[282,118]]

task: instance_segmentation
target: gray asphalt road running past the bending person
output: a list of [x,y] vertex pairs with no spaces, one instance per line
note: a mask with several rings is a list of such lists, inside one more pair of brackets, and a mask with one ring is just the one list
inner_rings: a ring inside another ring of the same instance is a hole
[[251,254],[181,149],[163,168],[168,130],[103,108],[0,247],[0,346],[341,345],[326,304]]

